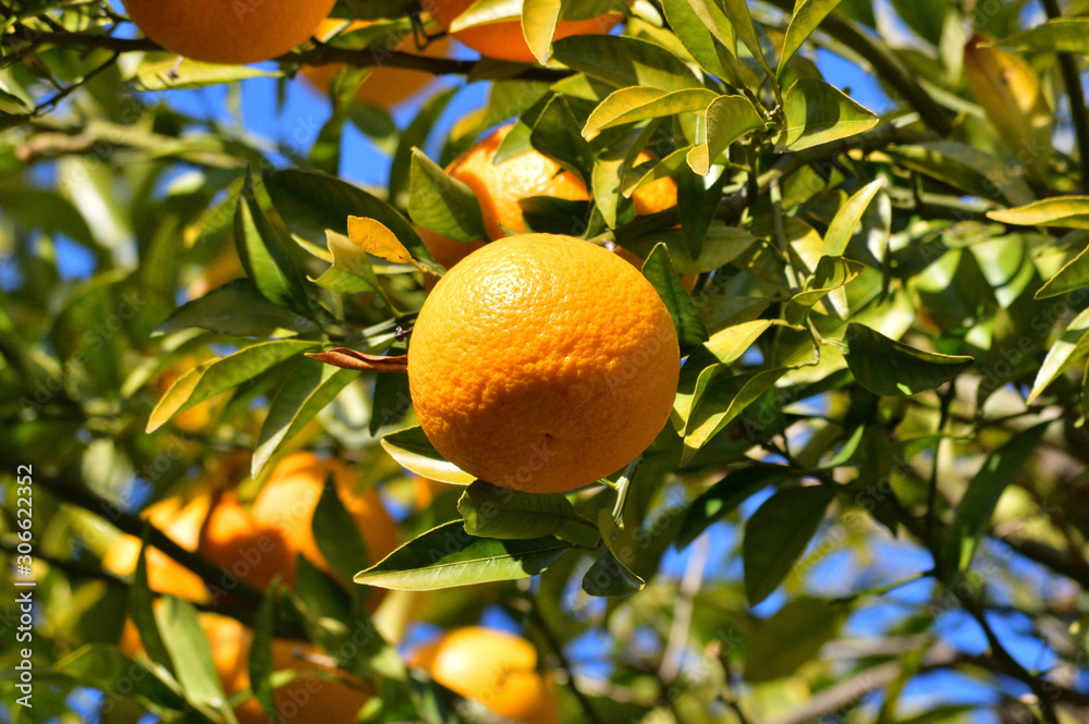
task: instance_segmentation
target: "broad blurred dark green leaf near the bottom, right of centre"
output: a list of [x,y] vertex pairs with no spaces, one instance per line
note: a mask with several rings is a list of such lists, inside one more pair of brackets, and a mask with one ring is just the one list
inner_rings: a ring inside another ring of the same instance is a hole
[[745,680],[773,682],[812,661],[839,636],[849,609],[830,601],[798,598],[756,625],[745,656]]

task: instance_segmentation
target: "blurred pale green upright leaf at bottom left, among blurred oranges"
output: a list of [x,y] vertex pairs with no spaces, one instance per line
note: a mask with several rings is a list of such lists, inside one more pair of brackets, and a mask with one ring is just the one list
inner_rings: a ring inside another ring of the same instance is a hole
[[185,698],[196,704],[230,711],[223,685],[216,674],[211,645],[200,628],[196,609],[173,596],[160,600],[162,604],[156,610],[155,618]]

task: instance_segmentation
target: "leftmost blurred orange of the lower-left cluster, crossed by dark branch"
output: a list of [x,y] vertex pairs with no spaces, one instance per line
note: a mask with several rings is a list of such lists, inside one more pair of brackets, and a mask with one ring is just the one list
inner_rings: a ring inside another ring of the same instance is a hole
[[[186,551],[194,552],[210,506],[209,495],[187,503],[180,498],[168,498],[148,507],[140,517]],[[131,576],[136,570],[139,547],[138,538],[119,536],[107,549],[102,567],[118,576]],[[149,588],[158,593],[169,593],[196,603],[208,601],[208,591],[200,577],[156,548],[147,551],[147,579]]]

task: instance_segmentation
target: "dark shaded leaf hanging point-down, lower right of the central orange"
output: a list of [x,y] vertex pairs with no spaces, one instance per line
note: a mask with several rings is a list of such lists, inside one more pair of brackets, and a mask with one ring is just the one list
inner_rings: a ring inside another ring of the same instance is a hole
[[763,601],[783,582],[824,519],[833,496],[828,486],[781,490],[745,523],[742,557],[750,605]]

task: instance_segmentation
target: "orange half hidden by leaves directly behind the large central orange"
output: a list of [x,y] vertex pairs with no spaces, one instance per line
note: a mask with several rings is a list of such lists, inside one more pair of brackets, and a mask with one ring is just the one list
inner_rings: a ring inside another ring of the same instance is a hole
[[[503,126],[446,168],[454,179],[468,186],[480,201],[488,238],[504,236],[503,228],[525,232],[518,201],[530,196],[551,196],[571,201],[590,198],[586,185],[570,171],[535,150],[509,158],[495,164],[495,151],[513,126]],[[646,154],[639,162],[649,160]],[[677,185],[672,179],[659,179],[632,195],[637,214],[654,213],[676,206]],[[455,242],[427,229],[419,230],[420,238],[435,260],[446,269],[484,246],[480,242]],[[631,251],[617,247],[621,256],[640,267],[643,261]]]

